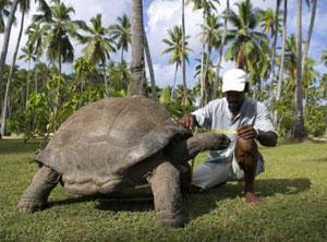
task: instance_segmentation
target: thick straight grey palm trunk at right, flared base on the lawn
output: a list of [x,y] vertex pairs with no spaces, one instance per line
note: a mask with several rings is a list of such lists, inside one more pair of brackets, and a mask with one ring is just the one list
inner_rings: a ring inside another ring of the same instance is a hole
[[301,141],[305,137],[303,105],[302,105],[302,0],[296,5],[296,125],[294,137]]

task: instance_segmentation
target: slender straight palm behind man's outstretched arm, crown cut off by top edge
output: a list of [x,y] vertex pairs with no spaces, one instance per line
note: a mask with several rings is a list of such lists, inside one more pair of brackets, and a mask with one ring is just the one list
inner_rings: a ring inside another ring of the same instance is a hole
[[[216,10],[216,7],[214,2],[219,3],[219,0],[187,0],[186,4],[189,2],[193,2],[193,9],[198,10],[203,9],[203,26],[205,26],[207,15],[210,13],[211,10]],[[202,69],[201,69],[201,100],[199,100],[199,106],[203,106],[203,98],[204,98],[204,92],[205,92],[205,70],[204,70],[204,55],[205,55],[205,45],[206,45],[206,31],[203,28],[203,34],[202,34],[202,58],[201,58],[201,63],[202,63]]]

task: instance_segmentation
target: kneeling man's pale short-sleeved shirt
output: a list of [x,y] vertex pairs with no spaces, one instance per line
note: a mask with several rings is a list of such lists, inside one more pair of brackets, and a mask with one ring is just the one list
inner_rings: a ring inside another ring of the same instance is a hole
[[[237,131],[239,126],[251,124],[261,131],[272,131],[277,135],[277,131],[272,125],[270,113],[266,106],[257,100],[245,97],[241,110],[232,120],[232,113],[228,108],[226,98],[210,101],[205,107],[192,112],[199,126],[210,130]],[[211,150],[206,159],[207,165],[210,162],[228,162],[232,161],[237,134],[226,133],[231,140],[228,148],[222,150]],[[262,155],[258,156],[262,161]]]

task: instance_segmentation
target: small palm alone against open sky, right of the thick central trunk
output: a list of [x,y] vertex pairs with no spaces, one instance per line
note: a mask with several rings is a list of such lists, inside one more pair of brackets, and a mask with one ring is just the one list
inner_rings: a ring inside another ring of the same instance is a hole
[[[183,37],[182,37],[181,27],[174,26],[172,29],[168,29],[168,35],[169,35],[169,39],[167,39],[167,38],[162,39],[162,43],[168,45],[168,48],[166,50],[164,50],[161,55],[172,53],[169,59],[169,63],[175,64],[174,77],[173,77],[173,83],[172,83],[172,87],[171,87],[171,96],[170,96],[170,99],[172,99],[173,93],[174,93],[174,86],[175,86],[175,77],[177,77],[178,69],[182,63],[183,55],[184,55],[185,60],[189,61],[189,52],[192,51],[192,49],[186,47],[187,43],[185,41],[185,44],[184,44],[185,52],[183,53],[183,51],[182,51]],[[190,36],[185,37],[185,39],[189,39],[189,38],[190,38]]]

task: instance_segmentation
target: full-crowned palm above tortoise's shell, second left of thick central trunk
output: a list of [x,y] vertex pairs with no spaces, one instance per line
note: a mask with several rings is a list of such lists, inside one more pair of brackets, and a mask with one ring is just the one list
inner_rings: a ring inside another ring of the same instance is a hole
[[110,52],[116,51],[113,47],[112,38],[108,38],[108,28],[102,26],[102,15],[97,14],[95,17],[92,17],[92,26],[83,26],[83,29],[90,34],[89,36],[78,35],[78,40],[81,44],[86,44],[86,47],[83,48],[85,58],[90,61],[93,64],[101,64],[104,72],[104,80],[106,92],[108,90],[107,82],[107,71],[106,71],[106,61],[110,59]]

